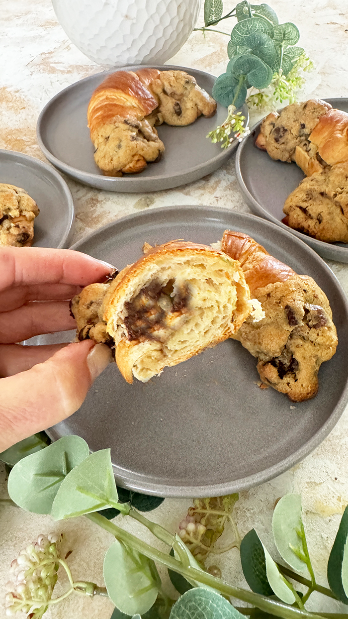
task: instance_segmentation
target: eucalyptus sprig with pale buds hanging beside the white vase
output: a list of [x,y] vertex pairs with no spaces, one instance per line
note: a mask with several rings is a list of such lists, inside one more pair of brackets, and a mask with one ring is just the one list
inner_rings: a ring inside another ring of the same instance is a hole
[[[230,17],[237,18],[231,34],[213,28]],[[214,99],[228,108],[226,121],[207,137],[221,142],[227,148],[232,142],[231,132],[237,139],[248,133],[244,120],[235,111],[246,102],[261,109],[279,106],[286,100],[293,103],[297,91],[305,82],[303,71],[313,64],[305,50],[296,45],[300,33],[295,24],[279,24],[276,12],[268,4],[239,2],[223,15],[222,0],[205,0],[203,32],[222,32],[230,37],[227,44],[226,72],[213,86]],[[237,124],[237,125],[236,125]]]

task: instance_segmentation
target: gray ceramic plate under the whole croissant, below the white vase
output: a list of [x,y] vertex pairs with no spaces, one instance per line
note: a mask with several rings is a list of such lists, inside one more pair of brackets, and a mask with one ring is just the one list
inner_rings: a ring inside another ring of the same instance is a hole
[[[143,68],[141,65],[125,67],[127,71]],[[198,84],[211,94],[214,76],[196,69],[177,66],[159,66],[156,69],[184,69]],[[87,128],[87,107],[93,90],[112,71],[98,73],[72,84],[58,93],[40,114],[37,136],[41,150],[59,170],[81,183],[108,189],[137,193],[170,189],[192,183],[217,170],[229,158],[239,142],[227,150],[212,144],[206,134],[224,122],[226,108],[218,105],[213,118],[200,117],[187,127],[158,127],[158,135],[166,147],[161,161],[149,163],[140,174],[124,175],[121,178],[103,176],[93,158],[93,144]],[[242,108],[248,120],[247,106]]]

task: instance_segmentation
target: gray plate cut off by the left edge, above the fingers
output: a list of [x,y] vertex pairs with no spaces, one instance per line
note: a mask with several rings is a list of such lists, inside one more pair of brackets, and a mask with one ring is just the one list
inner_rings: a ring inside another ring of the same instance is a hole
[[74,202],[69,187],[56,170],[34,157],[0,150],[0,183],[22,187],[38,205],[34,247],[69,247]]

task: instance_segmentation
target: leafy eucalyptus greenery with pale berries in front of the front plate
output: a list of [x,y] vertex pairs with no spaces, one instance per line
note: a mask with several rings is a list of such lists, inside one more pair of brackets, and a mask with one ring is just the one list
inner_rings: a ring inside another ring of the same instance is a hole
[[[348,507],[328,560],[328,589],[315,579],[299,495],[282,497],[274,509],[274,542],[287,564],[280,565],[273,560],[255,529],[239,542],[231,516],[237,495],[195,500],[185,521],[180,522],[179,535],[173,534],[135,509],[130,493],[127,495],[127,491],[117,490],[109,449],[90,454],[87,444],[78,436],[63,437],[20,459],[9,474],[8,487],[14,503],[27,511],[51,514],[57,520],[84,514],[114,539],[104,558],[105,587],[90,581],[75,582],[67,557],[59,555],[59,545],[54,540],[38,539],[34,545],[29,545],[12,563],[16,578],[9,582],[12,589],[6,594],[9,613],[22,609],[31,619],[41,619],[51,604],[57,604],[78,591],[87,595],[108,595],[116,606],[112,619],[347,617],[345,613],[309,612],[305,604],[314,591],[348,603]],[[150,509],[149,498],[141,499],[142,495],[134,494],[139,505]],[[126,496],[129,496],[129,502],[122,502],[121,497]],[[168,552],[158,550],[110,522],[98,513],[100,508],[115,509],[121,517],[136,519],[166,544]],[[223,550],[219,537],[227,524],[234,533],[230,547],[239,548],[240,545],[240,560],[250,590],[229,584],[204,567],[207,556]],[[195,532],[198,535],[192,535]],[[189,546],[200,561],[193,556]],[[163,591],[156,564],[168,568],[180,594],[177,601]],[[68,575],[69,589],[59,598],[53,598],[59,566]],[[37,586],[38,579],[40,587]],[[307,590],[298,592],[297,583]],[[248,607],[241,608],[236,602],[232,605],[231,597],[243,600]]]

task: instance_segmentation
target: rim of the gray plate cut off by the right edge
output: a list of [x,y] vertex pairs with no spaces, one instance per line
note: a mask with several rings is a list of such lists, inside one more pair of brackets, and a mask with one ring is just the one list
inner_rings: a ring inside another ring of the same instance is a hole
[[[348,97],[327,97],[327,98],[323,98],[322,100],[328,103],[333,102],[333,101],[337,102],[339,100],[345,101],[348,103]],[[264,116],[263,118],[266,118],[266,116]],[[348,244],[347,244],[347,248],[342,247],[340,245],[333,245],[332,243],[326,243],[325,241],[320,241],[316,238],[312,238],[311,236],[307,236],[303,234],[302,232],[299,232],[298,230],[293,230],[292,228],[289,228],[289,226],[286,226],[284,223],[276,219],[274,215],[272,215],[266,209],[264,209],[263,206],[261,206],[261,204],[255,199],[255,197],[253,197],[253,195],[248,190],[247,184],[245,183],[243,175],[242,175],[242,171],[240,170],[241,159],[244,153],[245,145],[247,144],[247,140],[254,138],[255,131],[257,131],[257,129],[260,127],[260,124],[262,123],[263,118],[260,121],[258,121],[258,123],[255,123],[250,128],[250,134],[245,138],[245,140],[241,142],[240,147],[239,149],[237,149],[237,152],[236,152],[236,178],[239,184],[239,188],[242,191],[242,195],[247,201],[248,206],[250,206],[253,213],[258,215],[258,217],[262,217],[262,219],[267,219],[268,221],[273,222],[276,225],[278,225],[278,227],[282,228],[282,230],[286,230],[290,232],[292,235],[297,236],[297,238],[299,238],[306,245],[314,249],[316,253],[320,254],[320,256],[323,256],[324,258],[328,258],[329,260],[337,260],[339,262],[348,262]],[[333,258],[333,252],[336,253],[336,258]]]

